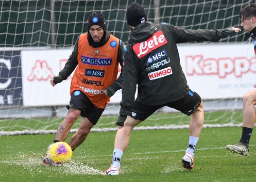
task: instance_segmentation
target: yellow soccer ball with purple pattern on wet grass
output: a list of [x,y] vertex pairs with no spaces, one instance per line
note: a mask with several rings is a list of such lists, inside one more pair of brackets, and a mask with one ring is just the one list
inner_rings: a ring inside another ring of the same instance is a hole
[[72,149],[64,141],[58,141],[49,146],[48,155],[56,163],[66,163],[72,157]]

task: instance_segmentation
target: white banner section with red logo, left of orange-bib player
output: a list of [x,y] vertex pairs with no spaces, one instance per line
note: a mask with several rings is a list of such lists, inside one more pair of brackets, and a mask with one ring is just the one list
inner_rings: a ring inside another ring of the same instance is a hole
[[68,105],[71,77],[53,87],[50,79],[58,76],[72,50],[23,50],[22,82],[25,106]]

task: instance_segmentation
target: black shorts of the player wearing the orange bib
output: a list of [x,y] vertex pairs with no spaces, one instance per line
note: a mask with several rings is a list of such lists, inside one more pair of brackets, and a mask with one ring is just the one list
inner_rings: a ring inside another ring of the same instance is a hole
[[99,120],[99,117],[103,113],[104,109],[95,107],[90,99],[80,90],[76,90],[72,93],[70,99],[70,105],[66,106],[67,109],[70,107],[81,111],[80,116],[87,117],[89,121],[96,125]]

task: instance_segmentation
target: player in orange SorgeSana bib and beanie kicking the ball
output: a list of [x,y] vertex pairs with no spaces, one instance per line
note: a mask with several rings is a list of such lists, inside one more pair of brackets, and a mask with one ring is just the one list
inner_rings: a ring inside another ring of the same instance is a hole
[[[117,78],[118,67],[123,66],[123,42],[107,31],[105,16],[92,13],[88,17],[88,33],[78,36],[72,54],[58,76],[50,80],[54,87],[71,75],[70,105],[59,125],[53,143],[65,141],[71,127],[79,116],[82,121],[69,145],[75,150],[83,143],[90,130],[110,101],[110,97],[122,88],[122,69]],[[42,158],[46,165],[58,165],[49,156]]]

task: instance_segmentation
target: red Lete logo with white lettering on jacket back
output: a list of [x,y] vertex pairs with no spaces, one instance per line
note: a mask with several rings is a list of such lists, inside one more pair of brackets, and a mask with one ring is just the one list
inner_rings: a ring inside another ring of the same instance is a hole
[[135,44],[132,47],[132,49],[137,54],[137,56],[139,58],[141,58],[144,55],[151,52],[152,50],[155,50],[165,44],[167,44],[167,40],[166,40],[163,32],[160,30],[160,31],[154,33],[153,36],[151,36],[149,39],[147,39],[147,41]]

